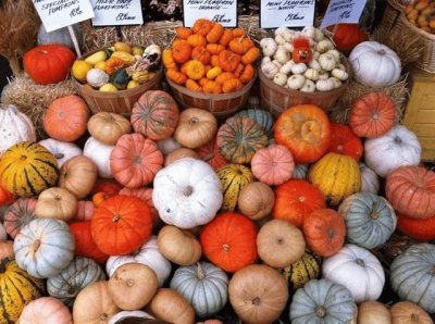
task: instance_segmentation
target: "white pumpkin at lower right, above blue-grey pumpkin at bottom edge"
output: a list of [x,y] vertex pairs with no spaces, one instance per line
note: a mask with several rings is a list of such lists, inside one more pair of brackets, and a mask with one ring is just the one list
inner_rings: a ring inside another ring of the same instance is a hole
[[384,270],[376,257],[350,244],[323,261],[322,274],[345,286],[357,303],[380,298],[385,284]]

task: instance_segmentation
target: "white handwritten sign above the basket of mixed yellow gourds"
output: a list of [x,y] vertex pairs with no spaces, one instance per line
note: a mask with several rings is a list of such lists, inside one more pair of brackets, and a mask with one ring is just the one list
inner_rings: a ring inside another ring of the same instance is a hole
[[144,24],[140,0],[90,0],[94,26]]

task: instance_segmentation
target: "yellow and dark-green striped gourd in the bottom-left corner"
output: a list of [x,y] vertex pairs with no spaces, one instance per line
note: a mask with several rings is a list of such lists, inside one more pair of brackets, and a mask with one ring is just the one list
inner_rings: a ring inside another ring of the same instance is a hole
[[18,267],[14,260],[0,263],[0,323],[13,324],[29,301],[45,294],[45,283]]

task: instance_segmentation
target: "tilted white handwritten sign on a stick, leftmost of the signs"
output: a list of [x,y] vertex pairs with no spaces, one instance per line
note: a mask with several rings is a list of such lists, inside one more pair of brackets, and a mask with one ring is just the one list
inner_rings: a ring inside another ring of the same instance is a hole
[[47,33],[94,17],[89,0],[33,0]]

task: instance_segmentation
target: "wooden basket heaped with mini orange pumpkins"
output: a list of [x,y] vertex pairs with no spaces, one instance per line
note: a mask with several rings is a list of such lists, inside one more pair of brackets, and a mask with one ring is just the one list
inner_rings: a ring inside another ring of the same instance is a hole
[[200,18],[191,28],[177,27],[176,35],[162,57],[178,103],[222,119],[243,108],[256,80],[254,62],[260,55],[246,30]]

